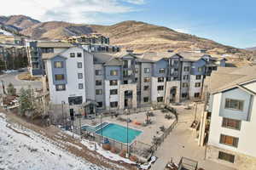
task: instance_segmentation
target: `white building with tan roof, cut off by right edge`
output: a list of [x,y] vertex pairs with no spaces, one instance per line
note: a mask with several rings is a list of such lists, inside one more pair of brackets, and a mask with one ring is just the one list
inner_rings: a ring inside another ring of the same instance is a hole
[[255,71],[255,66],[221,68],[207,78],[208,159],[237,169],[256,169]]

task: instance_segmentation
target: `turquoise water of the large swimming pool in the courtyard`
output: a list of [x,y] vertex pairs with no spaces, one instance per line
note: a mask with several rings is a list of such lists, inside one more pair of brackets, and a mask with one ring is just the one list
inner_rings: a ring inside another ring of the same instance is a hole
[[[102,129],[97,130],[96,133],[122,143],[127,143],[127,127],[118,124],[109,123],[107,126],[102,127]],[[140,133],[142,133],[142,131],[128,128],[128,143],[136,139]]]

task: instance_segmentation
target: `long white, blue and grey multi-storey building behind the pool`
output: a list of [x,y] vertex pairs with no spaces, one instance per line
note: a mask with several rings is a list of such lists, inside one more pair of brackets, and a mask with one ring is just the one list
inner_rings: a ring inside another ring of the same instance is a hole
[[50,100],[57,105],[90,101],[98,110],[122,110],[200,99],[204,78],[225,60],[186,55],[90,53],[79,47],[43,54]]

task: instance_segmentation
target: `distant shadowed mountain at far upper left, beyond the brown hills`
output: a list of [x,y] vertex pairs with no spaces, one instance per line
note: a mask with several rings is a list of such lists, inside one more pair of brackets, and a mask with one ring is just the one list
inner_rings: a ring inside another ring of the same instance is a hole
[[40,23],[39,20],[25,15],[0,16],[0,22],[5,26],[13,26],[19,31]]

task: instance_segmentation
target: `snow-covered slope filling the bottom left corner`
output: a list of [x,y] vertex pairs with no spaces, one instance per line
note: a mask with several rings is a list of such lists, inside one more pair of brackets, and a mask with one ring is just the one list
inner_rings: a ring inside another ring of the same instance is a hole
[[9,128],[10,125],[4,117],[4,114],[0,113],[0,169],[105,169],[61,150],[49,139],[32,130],[18,127],[12,127],[15,130]]

